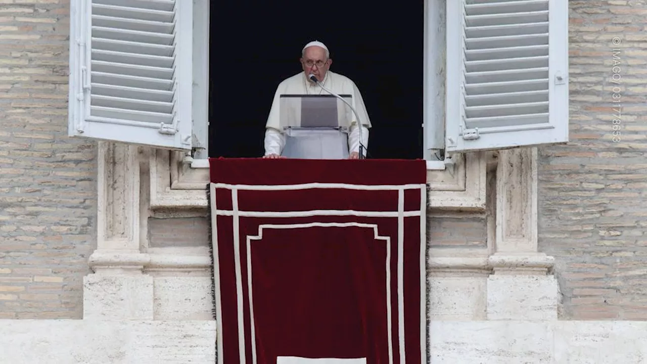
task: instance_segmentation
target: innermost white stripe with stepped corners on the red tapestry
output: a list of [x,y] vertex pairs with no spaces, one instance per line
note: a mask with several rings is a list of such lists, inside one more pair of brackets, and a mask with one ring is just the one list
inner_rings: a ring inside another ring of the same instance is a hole
[[[254,332],[254,305],[252,304],[252,240],[263,240],[263,229],[300,229],[303,227],[364,227],[373,229],[373,237],[375,240],[384,240],[386,242],[386,327],[389,345],[389,364],[393,364],[393,334],[391,328],[393,327],[393,318],[391,317],[391,238],[389,236],[380,236],[378,227],[375,223],[358,223],[358,222],[311,222],[311,223],[292,223],[292,224],[261,224],[258,225],[258,235],[247,236],[247,285],[248,285],[248,300],[250,307],[250,327],[251,327],[251,345],[252,345],[252,364],[256,364],[256,333]],[[400,262],[400,256],[398,257]],[[398,276],[398,289],[404,286],[404,279]],[[400,297],[399,297],[400,298]],[[398,322],[398,330],[404,330],[404,321]],[[239,338],[240,340],[241,338]],[[245,336],[242,337],[245,340]],[[402,338],[400,338],[402,340]],[[400,346],[400,352],[402,352]],[[400,354],[402,355],[402,354]],[[404,363],[404,362],[402,362]]]

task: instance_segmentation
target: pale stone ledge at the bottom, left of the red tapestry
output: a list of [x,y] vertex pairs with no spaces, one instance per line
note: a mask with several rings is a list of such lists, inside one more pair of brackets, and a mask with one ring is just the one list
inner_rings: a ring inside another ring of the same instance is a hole
[[0,362],[213,364],[215,321],[0,320]]

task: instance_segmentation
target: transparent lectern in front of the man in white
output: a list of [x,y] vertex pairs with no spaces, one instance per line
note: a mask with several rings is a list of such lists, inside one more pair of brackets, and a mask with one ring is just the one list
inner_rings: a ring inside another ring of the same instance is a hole
[[[351,95],[340,97],[352,102]],[[281,155],[296,159],[347,159],[351,109],[334,95],[280,95]]]

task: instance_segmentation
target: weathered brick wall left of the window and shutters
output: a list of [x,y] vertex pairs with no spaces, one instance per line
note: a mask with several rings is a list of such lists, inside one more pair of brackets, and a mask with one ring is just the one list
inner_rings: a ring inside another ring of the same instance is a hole
[[69,0],[0,0],[0,319],[82,318],[95,143],[67,137]]

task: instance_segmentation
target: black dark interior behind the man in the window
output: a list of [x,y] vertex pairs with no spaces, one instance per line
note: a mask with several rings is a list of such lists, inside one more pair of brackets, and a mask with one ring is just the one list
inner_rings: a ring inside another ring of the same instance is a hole
[[422,158],[423,4],[414,1],[212,1],[210,157],[263,155],[276,86],[322,41],[331,71],[355,82],[372,158]]

